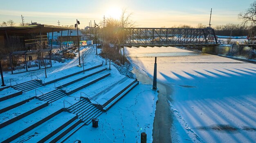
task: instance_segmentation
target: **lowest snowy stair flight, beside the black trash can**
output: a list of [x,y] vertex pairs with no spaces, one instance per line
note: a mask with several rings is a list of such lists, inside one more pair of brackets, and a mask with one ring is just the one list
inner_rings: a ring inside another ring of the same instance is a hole
[[81,119],[85,125],[90,124],[93,118],[96,118],[103,113],[97,109],[96,106],[85,99],[82,99],[73,106],[68,107],[67,111],[78,115],[79,119]]

